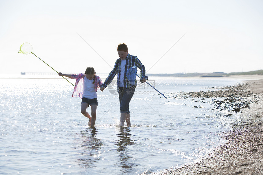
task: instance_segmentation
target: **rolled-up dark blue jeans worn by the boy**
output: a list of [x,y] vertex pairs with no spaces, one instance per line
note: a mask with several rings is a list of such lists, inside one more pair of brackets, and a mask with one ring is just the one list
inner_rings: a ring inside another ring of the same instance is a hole
[[120,99],[120,113],[130,113],[129,103],[134,94],[135,87],[128,88],[118,87],[119,99]]

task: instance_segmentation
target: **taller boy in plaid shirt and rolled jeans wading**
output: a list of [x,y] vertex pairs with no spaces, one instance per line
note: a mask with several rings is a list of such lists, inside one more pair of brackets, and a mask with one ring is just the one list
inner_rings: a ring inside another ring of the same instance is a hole
[[145,67],[141,61],[136,56],[132,56],[128,53],[128,47],[126,44],[119,44],[117,52],[120,58],[115,62],[113,70],[109,73],[105,82],[102,83],[100,90],[103,91],[117,74],[117,88],[120,100],[120,126],[124,126],[124,122],[126,121],[127,126],[131,127],[129,103],[134,94],[137,82],[135,82],[135,85],[130,85],[128,78],[126,77],[127,70],[133,66],[139,67],[141,70],[140,82],[146,82],[148,77],[145,76]]

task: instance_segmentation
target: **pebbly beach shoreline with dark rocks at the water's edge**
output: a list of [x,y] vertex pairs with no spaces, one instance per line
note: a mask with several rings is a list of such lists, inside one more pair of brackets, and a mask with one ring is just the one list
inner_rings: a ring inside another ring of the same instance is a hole
[[[173,94],[177,97],[213,98],[217,108],[228,108],[240,116],[232,129],[223,133],[227,142],[215,148],[200,162],[170,167],[152,175],[183,174],[263,174],[263,79],[245,81],[243,85],[223,87],[218,91]],[[235,105],[235,106],[234,106]],[[238,110],[236,110],[238,108]]]

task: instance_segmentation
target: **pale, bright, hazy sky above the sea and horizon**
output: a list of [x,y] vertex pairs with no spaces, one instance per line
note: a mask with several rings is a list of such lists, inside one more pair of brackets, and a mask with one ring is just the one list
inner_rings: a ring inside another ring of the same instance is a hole
[[0,0],[0,74],[109,73],[126,43],[148,74],[263,69],[261,0]]

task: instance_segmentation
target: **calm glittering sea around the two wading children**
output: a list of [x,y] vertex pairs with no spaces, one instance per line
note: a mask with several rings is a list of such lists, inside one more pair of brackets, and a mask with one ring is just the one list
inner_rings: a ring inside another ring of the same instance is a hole
[[[212,110],[210,103],[165,99],[138,84],[130,102],[132,127],[121,129],[115,85],[98,90],[92,129],[65,79],[2,75],[0,80],[0,174],[141,174],[182,166],[222,144],[221,133],[236,117],[223,117],[228,111]],[[166,94],[243,80],[151,77],[149,83]]]

